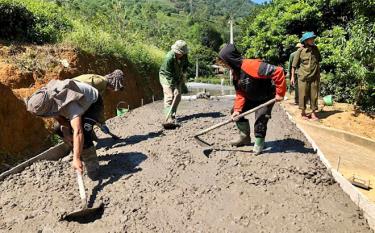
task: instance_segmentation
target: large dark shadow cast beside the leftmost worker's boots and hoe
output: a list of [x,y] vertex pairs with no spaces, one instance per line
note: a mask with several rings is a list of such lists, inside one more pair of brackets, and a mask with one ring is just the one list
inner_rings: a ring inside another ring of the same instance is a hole
[[137,173],[142,169],[138,166],[147,159],[147,155],[140,152],[119,153],[99,157],[100,161],[109,161],[108,164],[99,167],[98,184],[93,188],[88,201],[88,207],[92,207],[96,196],[107,185],[113,184],[121,177]]

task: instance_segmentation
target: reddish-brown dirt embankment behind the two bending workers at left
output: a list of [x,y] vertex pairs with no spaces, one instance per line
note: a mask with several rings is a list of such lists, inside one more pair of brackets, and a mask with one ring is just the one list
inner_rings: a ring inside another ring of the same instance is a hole
[[[21,46],[0,44],[0,171],[4,163],[12,164],[51,145],[51,121],[43,122],[27,114],[23,98],[52,79],[73,78],[81,74],[105,75],[115,69],[125,73],[125,91],[107,93],[106,117],[115,115],[119,101],[131,108],[160,99],[161,87],[157,73],[144,75],[129,61],[113,57],[95,56],[69,47]],[[43,142],[43,143],[42,143]],[[12,156],[4,156],[12,155]],[[22,156],[15,156],[21,155]]]

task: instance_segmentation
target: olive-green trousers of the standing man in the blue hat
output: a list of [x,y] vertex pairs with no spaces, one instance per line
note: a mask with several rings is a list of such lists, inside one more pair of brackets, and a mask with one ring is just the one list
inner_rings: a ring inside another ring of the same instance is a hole
[[312,81],[298,80],[298,105],[301,110],[306,110],[308,101],[312,111],[318,110],[319,86],[319,78]]

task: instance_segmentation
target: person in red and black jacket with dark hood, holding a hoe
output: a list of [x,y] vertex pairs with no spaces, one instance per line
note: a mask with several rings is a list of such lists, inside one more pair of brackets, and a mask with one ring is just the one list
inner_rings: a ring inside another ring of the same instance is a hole
[[[263,62],[260,59],[244,59],[233,44],[226,45],[219,53],[220,60],[230,68],[236,98],[232,109],[232,118],[240,131],[238,139],[231,141],[233,146],[250,145],[249,120],[238,119],[238,115],[255,108],[273,98],[282,101],[286,92],[286,81],[282,67]],[[262,153],[267,133],[267,123],[271,118],[273,105],[255,112],[253,151]]]

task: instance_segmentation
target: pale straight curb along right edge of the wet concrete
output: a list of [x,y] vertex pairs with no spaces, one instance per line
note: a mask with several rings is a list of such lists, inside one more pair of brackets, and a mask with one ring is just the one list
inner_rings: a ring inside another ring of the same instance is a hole
[[347,195],[349,195],[350,199],[358,206],[358,208],[360,208],[363,211],[363,215],[366,218],[370,228],[373,231],[375,231],[375,205],[372,204],[365,195],[363,195],[361,192],[355,189],[353,185],[345,177],[341,175],[341,173],[339,173],[332,167],[332,165],[329,163],[324,153],[320,150],[320,148],[317,146],[315,141],[307,134],[307,132],[304,129],[302,129],[298,125],[298,123],[293,119],[293,117],[286,111],[284,107],[282,107],[282,109],[288,116],[289,120],[293,124],[296,125],[296,127],[303,133],[306,139],[311,143],[314,150],[316,150],[320,160],[327,167],[327,169],[331,172],[333,178],[340,185],[341,189]]

